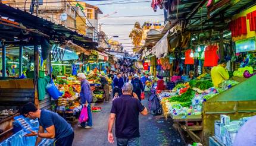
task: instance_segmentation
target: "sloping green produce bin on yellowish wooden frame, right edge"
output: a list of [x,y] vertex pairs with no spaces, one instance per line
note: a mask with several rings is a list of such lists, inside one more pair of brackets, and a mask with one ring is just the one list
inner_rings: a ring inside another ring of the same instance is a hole
[[202,140],[205,145],[209,145],[209,137],[214,135],[214,121],[220,119],[220,115],[230,116],[232,120],[256,115],[255,82],[256,75],[203,103]]

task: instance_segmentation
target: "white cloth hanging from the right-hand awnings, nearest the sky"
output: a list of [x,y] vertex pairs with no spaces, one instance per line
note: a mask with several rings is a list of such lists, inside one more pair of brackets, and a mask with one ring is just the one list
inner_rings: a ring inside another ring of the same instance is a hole
[[152,50],[155,50],[155,56],[157,58],[160,58],[162,54],[167,55],[168,53],[168,40],[167,40],[168,32],[164,34],[162,39],[160,39],[154,47],[152,47]]

